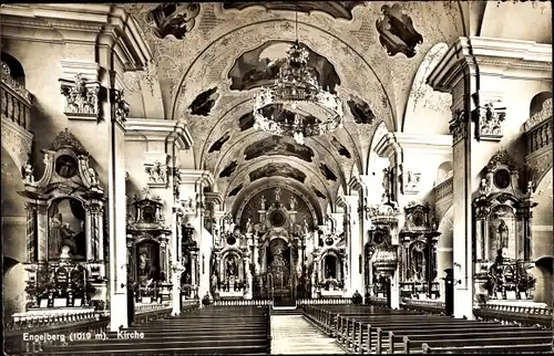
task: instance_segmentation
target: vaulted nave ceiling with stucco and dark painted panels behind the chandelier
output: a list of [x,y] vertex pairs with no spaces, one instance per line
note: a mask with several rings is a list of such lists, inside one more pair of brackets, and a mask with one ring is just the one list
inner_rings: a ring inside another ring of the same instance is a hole
[[[294,168],[287,170],[290,175],[271,176],[269,181],[306,186],[302,193],[324,211],[339,186],[347,188],[351,171],[367,171],[376,123],[400,129],[425,54],[437,43],[449,45],[464,34],[462,7],[451,1],[126,6],[153,53],[148,71],[137,74],[141,83],[158,83],[165,117],[186,122],[194,137],[195,167],[224,176],[216,184],[225,206],[234,206],[250,186],[264,181],[248,182],[250,172],[286,163]],[[279,59],[297,33],[310,50],[310,66],[320,83],[337,92],[345,105],[343,128],[309,138],[301,149],[287,139],[264,143],[276,139],[257,132],[252,115],[254,95],[260,85],[273,83]],[[264,144],[255,148],[257,143]],[[304,184],[291,178],[295,169],[306,176]]]

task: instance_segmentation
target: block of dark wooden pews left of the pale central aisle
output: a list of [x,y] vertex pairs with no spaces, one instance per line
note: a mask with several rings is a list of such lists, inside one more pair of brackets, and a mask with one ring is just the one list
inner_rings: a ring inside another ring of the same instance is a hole
[[267,306],[206,307],[179,316],[44,348],[42,355],[186,355],[270,353]]

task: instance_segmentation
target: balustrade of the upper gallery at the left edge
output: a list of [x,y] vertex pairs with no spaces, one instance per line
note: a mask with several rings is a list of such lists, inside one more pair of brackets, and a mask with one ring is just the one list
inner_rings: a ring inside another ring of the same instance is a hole
[[1,115],[8,121],[29,130],[31,123],[31,94],[10,74],[10,67],[0,62]]

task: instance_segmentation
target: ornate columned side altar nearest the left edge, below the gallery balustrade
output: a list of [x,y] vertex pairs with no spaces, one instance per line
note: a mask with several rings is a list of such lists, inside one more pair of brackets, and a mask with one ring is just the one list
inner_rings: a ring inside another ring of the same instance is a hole
[[24,168],[27,311],[106,307],[105,195],[89,153],[68,129]]

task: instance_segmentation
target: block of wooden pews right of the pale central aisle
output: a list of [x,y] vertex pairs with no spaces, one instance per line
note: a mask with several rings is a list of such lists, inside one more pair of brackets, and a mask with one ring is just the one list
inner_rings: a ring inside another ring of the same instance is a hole
[[305,306],[304,315],[352,354],[551,353],[552,329],[381,306]]

